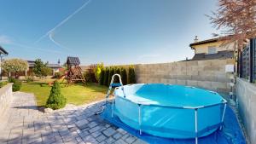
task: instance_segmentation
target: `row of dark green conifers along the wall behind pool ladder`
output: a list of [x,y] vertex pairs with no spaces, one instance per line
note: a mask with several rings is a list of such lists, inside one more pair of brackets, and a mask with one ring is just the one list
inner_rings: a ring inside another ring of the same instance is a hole
[[[122,83],[125,84],[136,84],[134,67],[130,66],[128,72],[125,67],[105,67],[102,69],[100,74],[100,84],[109,86],[113,74],[119,74],[122,78]],[[114,83],[119,83],[119,78],[115,77]]]

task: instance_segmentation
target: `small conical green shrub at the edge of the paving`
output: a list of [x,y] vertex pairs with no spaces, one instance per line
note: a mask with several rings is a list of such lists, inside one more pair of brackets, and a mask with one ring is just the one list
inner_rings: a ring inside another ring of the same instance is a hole
[[55,81],[50,90],[50,94],[46,102],[46,107],[55,110],[65,107],[66,103],[66,98],[61,94],[61,85],[59,82]]

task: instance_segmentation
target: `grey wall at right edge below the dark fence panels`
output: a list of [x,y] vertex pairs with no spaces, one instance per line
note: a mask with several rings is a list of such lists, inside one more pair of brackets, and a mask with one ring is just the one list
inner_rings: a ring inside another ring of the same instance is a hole
[[256,143],[256,85],[236,78],[238,112],[251,143]]

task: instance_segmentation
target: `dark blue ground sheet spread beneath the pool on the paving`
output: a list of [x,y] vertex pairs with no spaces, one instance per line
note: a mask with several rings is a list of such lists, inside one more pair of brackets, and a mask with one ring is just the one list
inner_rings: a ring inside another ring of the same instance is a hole
[[[101,118],[107,120],[109,123],[126,130],[131,135],[137,136],[143,141],[147,141],[151,144],[191,144],[195,143],[195,139],[172,139],[172,138],[162,138],[154,135],[148,135],[143,133],[139,134],[138,130],[132,129],[130,126],[122,123],[120,119],[113,115],[111,118],[111,105],[107,105],[104,111],[101,113]],[[173,131],[174,132],[174,131]],[[230,107],[227,107],[224,116],[224,126],[222,130],[216,130],[211,135],[201,137],[198,140],[199,144],[246,144],[244,135],[240,125],[237,122],[236,114]]]

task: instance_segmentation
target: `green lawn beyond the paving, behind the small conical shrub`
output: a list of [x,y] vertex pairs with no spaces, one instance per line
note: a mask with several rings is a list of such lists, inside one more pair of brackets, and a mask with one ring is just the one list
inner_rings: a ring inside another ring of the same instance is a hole
[[[36,96],[38,107],[44,106],[51,87],[46,82],[23,83],[20,91],[33,93]],[[61,84],[61,93],[67,98],[67,103],[82,105],[91,101],[103,100],[107,94],[106,86],[92,84],[72,84],[65,87]]]

